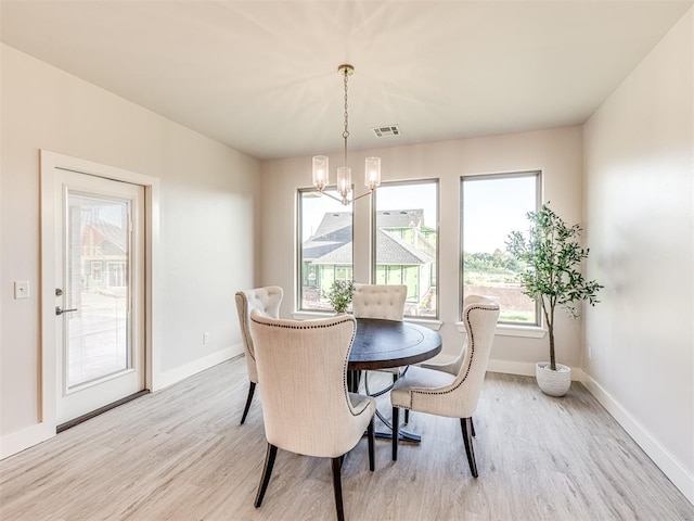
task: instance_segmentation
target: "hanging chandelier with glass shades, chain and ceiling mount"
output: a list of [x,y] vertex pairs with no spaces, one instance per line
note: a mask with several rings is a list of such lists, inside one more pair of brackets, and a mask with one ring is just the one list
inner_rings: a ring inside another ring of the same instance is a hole
[[329,181],[329,166],[326,155],[313,156],[313,186],[329,198],[339,201],[344,205],[357,201],[358,199],[369,195],[381,185],[381,157],[367,157],[364,165],[364,185],[369,188],[369,192],[362,193],[358,198],[349,199],[351,191],[351,168],[347,166],[347,138],[349,138],[349,115],[347,113],[347,79],[355,74],[355,67],[349,64],[343,64],[337,67],[339,74],[343,75],[343,85],[345,88],[345,127],[343,130],[343,139],[345,140],[345,153],[343,157],[343,166],[337,168],[337,193],[339,198],[325,192]]

